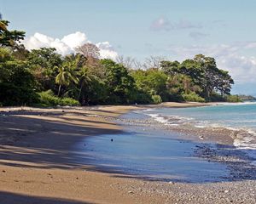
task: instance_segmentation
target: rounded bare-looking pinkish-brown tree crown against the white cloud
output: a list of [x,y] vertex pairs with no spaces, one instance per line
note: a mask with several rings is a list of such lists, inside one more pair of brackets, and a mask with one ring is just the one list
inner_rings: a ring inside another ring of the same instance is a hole
[[84,45],[76,48],[76,51],[83,54],[87,59],[99,59],[100,58],[100,48],[96,47],[93,43],[85,43]]

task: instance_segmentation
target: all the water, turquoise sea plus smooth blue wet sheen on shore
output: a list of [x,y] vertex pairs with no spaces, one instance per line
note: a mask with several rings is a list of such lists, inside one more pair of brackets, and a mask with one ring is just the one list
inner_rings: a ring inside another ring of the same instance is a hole
[[[96,171],[189,183],[240,179],[234,175],[245,173],[247,167],[253,169],[250,165],[256,164],[256,103],[131,111],[117,122],[123,127],[120,133],[86,137],[76,144],[76,161],[91,165]],[[234,132],[236,139],[234,146],[223,145],[219,150],[218,144],[202,144],[165,126],[228,128],[230,131],[224,133]],[[233,161],[210,161],[210,157],[196,154],[201,150],[213,150],[218,158],[245,153],[249,166],[242,163],[236,168],[230,167]]]

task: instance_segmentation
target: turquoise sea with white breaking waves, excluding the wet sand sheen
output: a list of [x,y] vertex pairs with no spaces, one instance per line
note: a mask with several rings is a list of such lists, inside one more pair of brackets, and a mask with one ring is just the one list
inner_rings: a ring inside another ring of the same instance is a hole
[[146,110],[143,113],[169,126],[229,128],[236,133],[234,145],[247,150],[250,156],[256,158],[256,103],[166,108]]

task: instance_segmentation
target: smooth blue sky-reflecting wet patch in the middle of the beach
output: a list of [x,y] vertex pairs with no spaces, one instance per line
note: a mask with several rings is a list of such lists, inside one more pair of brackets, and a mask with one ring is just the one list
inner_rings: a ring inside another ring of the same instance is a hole
[[90,167],[93,171],[121,173],[146,180],[226,181],[230,175],[228,168],[195,156],[197,145],[200,144],[172,139],[161,130],[130,126],[125,127],[123,133],[84,138],[75,146],[78,153],[73,158],[93,166]]

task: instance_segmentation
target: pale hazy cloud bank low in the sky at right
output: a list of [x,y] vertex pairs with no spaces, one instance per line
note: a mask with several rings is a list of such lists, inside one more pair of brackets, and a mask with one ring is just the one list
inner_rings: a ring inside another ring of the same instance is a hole
[[[231,45],[216,44],[209,46],[170,46],[169,52],[179,60],[193,58],[195,54],[204,54],[216,59],[219,68],[230,72],[238,84],[256,82],[256,58],[245,54],[256,51],[256,42],[236,42]],[[244,53],[244,54],[241,54]]]

